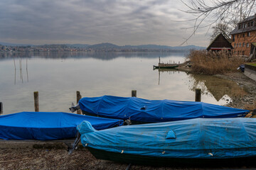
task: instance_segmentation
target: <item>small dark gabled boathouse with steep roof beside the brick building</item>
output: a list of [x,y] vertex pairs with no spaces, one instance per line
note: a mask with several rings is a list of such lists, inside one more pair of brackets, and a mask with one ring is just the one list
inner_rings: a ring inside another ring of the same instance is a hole
[[231,45],[231,40],[228,35],[220,33],[216,38],[210,42],[210,45],[206,48],[208,51],[219,52],[221,50],[231,51],[233,46]]

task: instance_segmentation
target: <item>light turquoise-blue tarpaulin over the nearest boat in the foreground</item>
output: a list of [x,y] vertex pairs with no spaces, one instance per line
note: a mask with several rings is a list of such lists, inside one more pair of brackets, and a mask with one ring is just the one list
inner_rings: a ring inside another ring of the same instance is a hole
[[256,156],[255,118],[196,118],[100,131],[87,122],[78,130],[82,145],[107,152],[198,159]]

